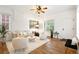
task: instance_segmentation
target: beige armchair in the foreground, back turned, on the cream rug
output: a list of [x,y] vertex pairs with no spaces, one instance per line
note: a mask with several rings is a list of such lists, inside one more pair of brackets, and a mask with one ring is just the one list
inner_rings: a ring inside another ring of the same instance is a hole
[[26,39],[14,39],[12,45],[15,53],[23,53],[27,48],[27,41]]

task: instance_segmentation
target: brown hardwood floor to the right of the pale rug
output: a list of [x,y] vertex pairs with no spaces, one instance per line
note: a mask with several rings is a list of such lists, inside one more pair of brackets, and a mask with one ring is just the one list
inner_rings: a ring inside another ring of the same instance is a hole
[[[65,54],[65,41],[59,39],[50,39],[50,41],[41,47],[35,49],[30,54]],[[69,49],[67,54],[76,54],[76,50]]]

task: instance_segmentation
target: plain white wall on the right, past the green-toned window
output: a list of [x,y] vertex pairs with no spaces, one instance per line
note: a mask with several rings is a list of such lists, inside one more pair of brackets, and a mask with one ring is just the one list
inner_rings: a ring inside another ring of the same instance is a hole
[[[76,9],[63,11],[55,14],[55,31],[59,32],[60,38],[71,39],[76,35]],[[64,29],[64,30],[63,30]]]

